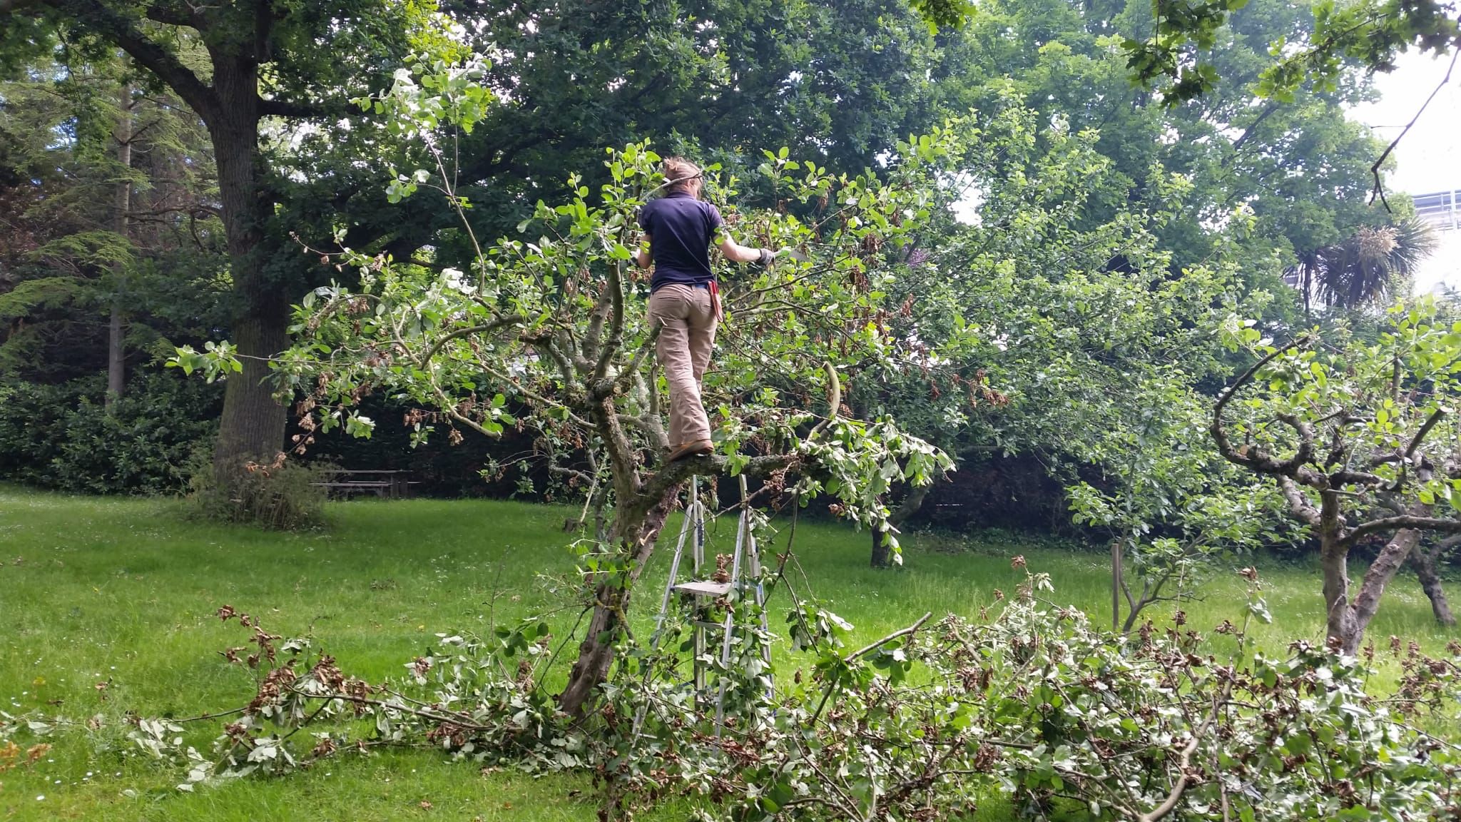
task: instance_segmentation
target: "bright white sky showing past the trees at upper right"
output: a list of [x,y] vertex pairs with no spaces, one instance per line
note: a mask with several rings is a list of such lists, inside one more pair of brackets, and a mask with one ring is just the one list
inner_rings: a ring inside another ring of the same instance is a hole
[[[1381,99],[1356,107],[1350,116],[1392,140],[1435,91],[1451,56],[1404,54],[1395,70],[1375,78]],[[1410,195],[1461,189],[1461,64],[1441,88],[1426,113],[1395,146],[1395,173],[1388,184]],[[1461,290],[1461,231],[1443,231],[1435,254],[1416,275],[1416,291],[1435,291],[1442,284]]]

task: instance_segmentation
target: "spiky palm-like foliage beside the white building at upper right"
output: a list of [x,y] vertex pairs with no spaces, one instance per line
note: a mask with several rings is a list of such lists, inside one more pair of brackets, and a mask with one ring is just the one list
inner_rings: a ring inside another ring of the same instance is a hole
[[1430,227],[1410,216],[1360,228],[1343,243],[1315,249],[1287,274],[1303,294],[1305,310],[1313,298],[1325,307],[1359,309],[1388,301],[1397,284],[1413,275],[1435,247]]

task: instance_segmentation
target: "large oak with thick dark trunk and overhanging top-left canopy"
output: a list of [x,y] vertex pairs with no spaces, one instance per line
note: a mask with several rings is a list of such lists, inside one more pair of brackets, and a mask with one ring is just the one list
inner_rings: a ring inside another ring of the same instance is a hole
[[[421,10],[409,3],[373,1],[0,1],[0,19],[25,45],[44,51],[58,34],[115,45],[207,127],[234,285],[232,338],[244,364],[224,404],[213,461],[221,478],[283,445],[285,410],[264,377],[267,358],[288,345],[291,294],[270,266],[279,197],[260,124],[343,111],[349,91],[403,57],[413,15]],[[18,42],[7,37],[6,45]]]

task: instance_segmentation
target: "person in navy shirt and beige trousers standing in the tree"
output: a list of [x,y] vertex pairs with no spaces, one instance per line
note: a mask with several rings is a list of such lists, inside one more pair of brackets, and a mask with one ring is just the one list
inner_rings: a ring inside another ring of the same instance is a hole
[[[644,243],[634,263],[649,268],[649,320],[659,326],[655,357],[669,382],[669,461],[703,456],[710,445],[710,418],[700,402],[700,380],[710,364],[720,320],[720,291],[710,269],[710,244],[725,222],[716,206],[700,199],[700,168],[672,157],[662,165],[663,196],[644,203]],[[736,244],[722,233],[720,253],[730,262],[768,265],[767,249]]]

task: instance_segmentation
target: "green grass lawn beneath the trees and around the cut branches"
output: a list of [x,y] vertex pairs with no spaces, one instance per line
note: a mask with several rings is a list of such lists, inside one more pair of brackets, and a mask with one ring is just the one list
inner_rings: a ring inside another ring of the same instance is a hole
[[[437,632],[484,630],[492,619],[536,613],[552,603],[539,576],[573,569],[561,508],[403,500],[337,503],[329,512],[329,529],[275,534],[188,522],[167,500],[0,487],[0,709],[86,718],[238,706],[251,680],[218,655],[243,644],[237,623],[213,616],[224,604],[262,617],[273,633],[311,633],[346,673],[378,682],[402,673]],[[733,531],[730,519],[714,525],[710,550],[729,551]],[[904,568],[872,570],[866,534],[798,528],[798,556],[815,592],[856,626],[856,641],[923,611],[977,614],[995,601],[993,589],[1010,591],[1023,578],[1010,566],[1012,554],[1052,575],[1056,600],[1109,619],[1109,562],[1099,554],[982,538],[904,543]],[[663,585],[668,551],[646,572],[641,630],[657,606],[652,591]],[[1321,639],[1316,569],[1259,568],[1275,619],[1255,632],[1258,641],[1281,651],[1296,638]],[[1236,575],[1218,575],[1204,592],[1185,606],[1192,626],[1239,622]],[[785,604],[773,600],[773,614]],[[1153,616],[1170,613],[1163,606]],[[1433,623],[1411,576],[1397,579],[1370,626],[1378,641],[1392,633],[1430,649],[1458,635]],[[0,819],[590,821],[596,810],[586,780],[484,775],[432,752],[343,756],[283,780],[184,794],[171,790],[178,774],[123,756],[123,739],[69,733],[51,742],[35,766],[0,774]],[[660,809],[647,818],[684,813]]]

